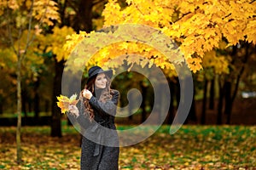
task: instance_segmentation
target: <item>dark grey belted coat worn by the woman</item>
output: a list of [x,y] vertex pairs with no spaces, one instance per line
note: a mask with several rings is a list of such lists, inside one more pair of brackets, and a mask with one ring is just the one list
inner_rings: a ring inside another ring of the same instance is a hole
[[[111,90],[113,98],[106,103],[95,96],[89,100],[95,117],[92,122],[84,114],[77,118],[83,128],[81,145],[81,170],[117,170],[119,169],[119,139],[114,125],[119,91]],[[81,111],[80,111],[81,112]]]

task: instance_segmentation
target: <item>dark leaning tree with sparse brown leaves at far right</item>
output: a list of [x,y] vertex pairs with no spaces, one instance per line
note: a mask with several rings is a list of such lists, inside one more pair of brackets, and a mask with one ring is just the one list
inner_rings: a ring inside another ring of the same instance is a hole
[[[231,123],[232,106],[236,99],[236,94],[239,90],[242,75],[248,67],[248,61],[253,61],[253,55],[255,55],[255,45],[249,42],[240,42],[236,46],[225,50],[224,54],[230,59],[229,73],[219,76],[219,89],[223,95],[223,99],[219,98],[219,102],[224,100],[224,114],[226,116],[225,123]],[[222,104],[218,105],[218,124],[222,123]]]

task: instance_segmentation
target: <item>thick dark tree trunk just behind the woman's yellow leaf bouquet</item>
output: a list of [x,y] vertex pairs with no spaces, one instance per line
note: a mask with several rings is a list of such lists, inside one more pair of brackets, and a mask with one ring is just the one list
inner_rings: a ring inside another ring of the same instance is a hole
[[53,96],[52,96],[52,119],[51,119],[51,132],[50,136],[52,137],[61,137],[61,110],[56,105],[57,99],[56,96],[61,94],[61,79],[64,69],[64,60],[57,62],[55,59],[55,78],[53,85]]

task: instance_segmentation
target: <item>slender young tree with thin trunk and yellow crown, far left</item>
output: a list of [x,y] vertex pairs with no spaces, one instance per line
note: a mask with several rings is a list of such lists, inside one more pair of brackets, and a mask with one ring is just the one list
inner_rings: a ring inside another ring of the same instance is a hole
[[[21,68],[26,56],[32,54],[31,46],[36,35],[44,26],[59,21],[56,3],[50,0],[38,1],[2,1],[0,4],[1,27],[5,32],[6,47],[12,49],[15,56],[17,78],[17,162],[21,162],[20,127],[21,127]],[[3,18],[5,20],[3,20]]]

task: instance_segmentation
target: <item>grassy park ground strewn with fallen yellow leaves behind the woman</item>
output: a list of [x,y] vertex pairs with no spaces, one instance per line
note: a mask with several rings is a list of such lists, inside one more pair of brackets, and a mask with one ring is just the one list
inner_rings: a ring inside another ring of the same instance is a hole
[[[0,127],[0,169],[79,169],[79,133],[65,125],[62,138],[50,138],[49,132],[22,127],[23,162],[17,165],[15,127]],[[162,126],[142,143],[121,147],[119,169],[253,170],[256,127],[187,125],[171,135]]]

